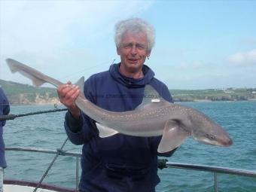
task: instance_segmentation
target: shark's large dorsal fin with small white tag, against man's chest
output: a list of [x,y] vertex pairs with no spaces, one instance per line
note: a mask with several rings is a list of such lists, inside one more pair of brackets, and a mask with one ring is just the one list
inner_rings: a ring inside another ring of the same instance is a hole
[[144,108],[145,105],[150,103],[160,104],[163,102],[166,102],[166,100],[160,96],[157,90],[155,90],[150,84],[146,84],[142,103],[137,108]]

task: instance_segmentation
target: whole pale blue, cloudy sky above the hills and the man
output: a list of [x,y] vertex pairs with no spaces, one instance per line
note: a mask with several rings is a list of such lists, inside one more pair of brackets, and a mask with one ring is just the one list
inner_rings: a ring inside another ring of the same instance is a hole
[[62,82],[108,70],[120,62],[114,25],[130,17],[154,26],[145,64],[169,89],[256,87],[253,0],[0,0],[0,79],[31,84],[7,58]]

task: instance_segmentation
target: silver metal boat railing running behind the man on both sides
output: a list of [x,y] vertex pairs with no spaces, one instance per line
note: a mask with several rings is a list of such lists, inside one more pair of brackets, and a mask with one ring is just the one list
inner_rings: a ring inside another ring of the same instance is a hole
[[[81,153],[62,151],[59,149],[50,150],[50,149],[42,149],[42,148],[23,148],[23,147],[9,147],[5,148],[5,151],[29,151],[29,152],[39,152],[46,154],[59,154],[61,156],[69,156],[76,158],[76,190],[78,190],[78,182],[79,182],[79,158],[81,157]],[[189,163],[175,163],[169,162],[167,160],[158,160],[158,167],[160,169],[163,168],[175,168],[175,169],[193,169],[197,171],[205,171],[205,172],[214,172],[215,177],[215,192],[218,192],[218,173],[231,174],[231,175],[243,175],[248,177],[256,178],[256,171],[246,170],[246,169],[232,169],[221,166],[206,166],[199,164],[189,164]]]

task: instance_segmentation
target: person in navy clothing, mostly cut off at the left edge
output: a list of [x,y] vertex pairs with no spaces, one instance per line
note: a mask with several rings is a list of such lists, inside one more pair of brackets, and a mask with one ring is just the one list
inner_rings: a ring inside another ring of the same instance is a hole
[[[0,87],[0,116],[9,114],[10,105],[4,91]],[[0,120],[0,192],[3,191],[4,181],[4,168],[6,167],[5,161],[5,142],[3,139],[3,126],[5,126],[5,120]]]

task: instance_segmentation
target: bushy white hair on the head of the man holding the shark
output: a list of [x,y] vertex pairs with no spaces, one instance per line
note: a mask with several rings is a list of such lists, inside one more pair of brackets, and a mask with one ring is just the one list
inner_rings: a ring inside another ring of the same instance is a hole
[[148,39],[148,50],[154,47],[155,31],[151,24],[147,23],[145,20],[139,18],[131,18],[128,20],[121,20],[115,25],[114,42],[117,47],[120,46],[121,38],[126,32],[143,32],[146,34]]

